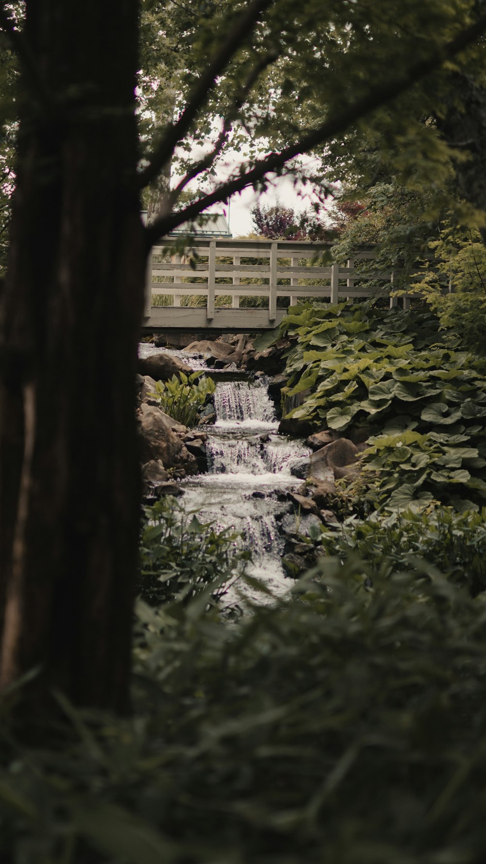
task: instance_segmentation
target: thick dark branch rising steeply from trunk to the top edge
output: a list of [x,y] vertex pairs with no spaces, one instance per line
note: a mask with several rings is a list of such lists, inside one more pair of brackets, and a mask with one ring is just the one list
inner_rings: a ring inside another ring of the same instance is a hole
[[148,186],[168,162],[176,144],[189,131],[190,125],[208,96],[208,92],[213,89],[216,79],[227,68],[228,63],[233,59],[246,36],[252,32],[259,16],[273,2],[274,0],[252,0],[252,3],[248,3],[246,10],[240,15],[233,30],[209,63],[208,69],[201,75],[181,117],[176,124],[169,126],[163,141],[151,156],[150,164],[138,176],[137,185],[139,188],[143,189]]

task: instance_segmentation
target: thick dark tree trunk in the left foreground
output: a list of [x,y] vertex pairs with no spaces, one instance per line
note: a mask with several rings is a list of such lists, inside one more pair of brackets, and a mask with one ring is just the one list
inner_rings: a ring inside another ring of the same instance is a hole
[[128,708],[144,241],[137,0],[27,0],[3,292],[0,682]]

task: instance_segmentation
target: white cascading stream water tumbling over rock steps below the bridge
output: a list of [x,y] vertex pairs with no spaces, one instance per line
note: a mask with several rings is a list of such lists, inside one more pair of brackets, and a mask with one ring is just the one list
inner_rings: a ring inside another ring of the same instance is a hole
[[[145,354],[157,351],[143,347]],[[204,361],[187,353],[169,353],[193,368],[206,368]],[[213,374],[211,369],[208,374]],[[272,594],[284,594],[291,581],[281,564],[284,539],[278,519],[291,511],[286,493],[303,482],[291,474],[291,467],[310,450],[303,442],[278,433],[278,419],[264,378],[217,378],[216,372],[216,422],[204,427],[208,433],[208,473],[182,480],[182,500],[188,510],[198,511],[201,522],[240,531],[242,548],[252,554],[246,572],[265,583]],[[238,603],[245,596],[260,604],[267,597],[237,581],[225,599]]]

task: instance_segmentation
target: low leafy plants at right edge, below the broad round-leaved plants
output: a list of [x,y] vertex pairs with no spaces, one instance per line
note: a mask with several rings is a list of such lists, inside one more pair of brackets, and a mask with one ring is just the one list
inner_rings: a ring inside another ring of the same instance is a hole
[[404,570],[420,575],[423,562],[440,569],[448,580],[466,586],[472,596],[486,590],[486,510],[457,513],[451,507],[425,511],[371,513],[323,528],[318,543],[343,562],[359,556],[390,578]]

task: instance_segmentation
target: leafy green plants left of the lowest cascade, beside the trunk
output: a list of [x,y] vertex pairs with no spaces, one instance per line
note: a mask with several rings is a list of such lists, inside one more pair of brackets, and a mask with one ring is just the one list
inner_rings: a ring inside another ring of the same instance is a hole
[[201,592],[207,602],[220,600],[236,566],[249,558],[235,551],[239,537],[231,528],[201,524],[195,511],[164,496],[144,508],[137,593],[152,606],[188,602]]

